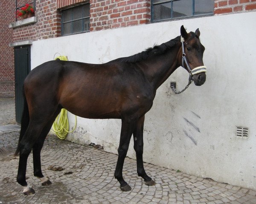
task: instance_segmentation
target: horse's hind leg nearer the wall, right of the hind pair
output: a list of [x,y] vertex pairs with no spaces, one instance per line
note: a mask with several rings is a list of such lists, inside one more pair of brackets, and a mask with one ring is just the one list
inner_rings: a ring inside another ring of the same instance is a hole
[[41,170],[41,149],[44,145],[44,140],[49,133],[49,130],[52,127],[52,123],[54,122],[56,116],[60,112],[60,109],[56,111],[52,119],[49,120],[47,125],[44,127],[44,129],[41,132],[41,135],[39,136],[38,140],[35,142],[32,150],[33,150],[33,166],[34,166],[34,176],[38,177],[41,180],[41,183],[43,186],[48,186],[52,184],[52,182],[49,180],[49,178],[44,177],[42,170]]

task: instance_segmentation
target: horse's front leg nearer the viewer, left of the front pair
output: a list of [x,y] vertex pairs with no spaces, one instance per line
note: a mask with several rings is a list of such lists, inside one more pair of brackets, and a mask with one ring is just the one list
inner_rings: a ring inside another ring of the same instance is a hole
[[129,191],[131,187],[125,182],[122,176],[122,169],[125,161],[125,156],[128,151],[129,143],[131,140],[131,135],[134,131],[134,122],[131,120],[122,119],[122,127],[121,127],[121,134],[120,134],[120,142],[118,147],[118,159],[116,163],[116,170],[115,170],[115,178],[120,183],[120,188],[122,191]]

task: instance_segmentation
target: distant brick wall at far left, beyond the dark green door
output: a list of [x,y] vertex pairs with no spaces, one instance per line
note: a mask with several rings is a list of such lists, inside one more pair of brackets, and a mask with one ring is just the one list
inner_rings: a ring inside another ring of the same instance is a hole
[[12,42],[12,30],[6,22],[15,16],[15,1],[1,0],[0,8],[0,96],[14,96],[14,51],[9,47]]

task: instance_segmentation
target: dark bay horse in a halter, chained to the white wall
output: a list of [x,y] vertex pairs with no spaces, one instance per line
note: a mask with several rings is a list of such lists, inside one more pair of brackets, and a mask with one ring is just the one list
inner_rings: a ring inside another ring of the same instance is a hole
[[20,153],[17,182],[24,187],[25,195],[35,193],[26,182],[26,165],[31,150],[34,176],[40,178],[42,185],[51,184],[42,174],[40,153],[61,108],[89,119],[121,119],[114,173],[121,190],[131,190],[123,179],[122,168],[132,135],[138,176],[147,185],[155,184],[143,167],[143,126],[145,113],[152,107],[157,88],[182,65],[193,77],[195,85],[202,85],[206,80],[205,48],[199,40],[199,29],[187,33],[181,26],[180,34],[139,54],[105,64],[50,61],[29,73],[24,82],[24,111],[15,153]]

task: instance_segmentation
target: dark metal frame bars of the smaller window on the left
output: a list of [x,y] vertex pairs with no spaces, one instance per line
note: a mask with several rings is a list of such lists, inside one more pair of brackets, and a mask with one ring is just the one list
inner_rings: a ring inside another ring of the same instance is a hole
[[[89,15],[88,16],[85,16],[84,17],[84,12],[82,12],[82,17],[79,18],[79,19],[73,19],[73,10],[79,6],[84,6],[84,5],[89,5]],[[72,10],[72,19],[69,20],[69,21],[66,21],[66,22],[63,22],[64,20],[64,11],[66,10]],[[84,30],[84,20],[85,19],[89,19],[89,29],[87,31],[83,31]],[[76,33],[73,33],[73,25],[74,25],[74,22],[78,21],[78,20],[82,20],[82,31],[81,32],[76,32]],[[71,23],[71,33],[70,34],[64,34],[64,24],[66,23]],[[69,36],[69,35],[74,35],[74,34],[81,34],[81,33],[87,33],[87,32],[90,32],[90,3],[84,3],[84,4],[80,4],[80,5],[77,5],[77,6],[73,6],[71,8],[67,8],[67,9],[63,9],[61,10],[61,36]]]

